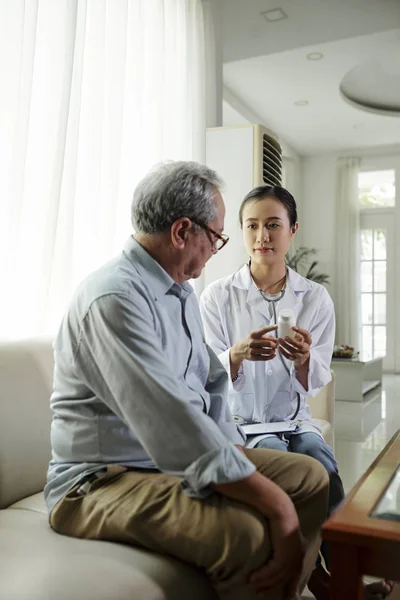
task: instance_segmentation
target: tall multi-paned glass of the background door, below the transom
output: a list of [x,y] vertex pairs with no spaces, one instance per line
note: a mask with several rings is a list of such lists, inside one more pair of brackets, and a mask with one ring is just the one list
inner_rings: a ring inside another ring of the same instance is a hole
[[362,349],[367,356],[386,354],[386,231],[361,230]]

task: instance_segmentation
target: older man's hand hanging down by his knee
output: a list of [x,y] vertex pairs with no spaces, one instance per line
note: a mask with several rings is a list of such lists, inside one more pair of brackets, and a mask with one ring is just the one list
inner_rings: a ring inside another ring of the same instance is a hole
[[298,598],[305,549],[294,507],[291,515],[271,519],[269,530],[272,558],[251,574],[249,583],[257,593],[282,587],[285,600]]

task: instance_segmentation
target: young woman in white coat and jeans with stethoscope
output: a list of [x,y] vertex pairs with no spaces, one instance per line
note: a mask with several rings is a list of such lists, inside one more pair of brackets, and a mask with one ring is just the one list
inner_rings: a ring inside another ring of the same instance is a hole
[[[228,401],[239,422],[269,423],[295,418],[293,433],[258,435],[247,445],[299,452],[320,461],[330,478],[329,514],[344,498],[332,449],[311,418],[307,397],[331,379],[335,314],[326,289],[285,263],[298,229],[296,202],[282,187],[261,186],[239,211],[249,263],[210,284],[200,299],[206,341],[230,378]],[[294,339],[276,337],[277,315],[294,311]],[[321,548],[329,568],[328,548]],[[328,598],[329,575],[318,566],[309,587]],[[390,592],[384,582],[367,587],[368,598]]]

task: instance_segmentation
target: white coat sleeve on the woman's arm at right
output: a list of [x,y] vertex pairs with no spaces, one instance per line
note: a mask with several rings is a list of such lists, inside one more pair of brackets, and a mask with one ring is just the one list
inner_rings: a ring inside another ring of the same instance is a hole
[[302,395],[314,397],[319,390],[330,382],[331,360],[335,340],[335,311],[333,302],[326,292],[326,301],[318,311],[315,323],[310,328],[312,338],[310,366],[308,370],[308,390],[304,389],[296,377],[292,364],[291,380],[293,389]]

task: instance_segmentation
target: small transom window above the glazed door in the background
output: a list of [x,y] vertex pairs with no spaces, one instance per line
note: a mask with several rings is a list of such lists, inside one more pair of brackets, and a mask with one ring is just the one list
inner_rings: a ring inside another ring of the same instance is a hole
[[362,208],[386,208],[395,205],[395,172],[361,171],[358,175],[358,198]]

